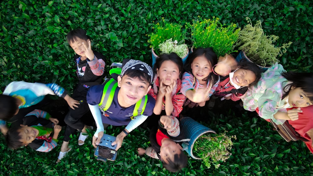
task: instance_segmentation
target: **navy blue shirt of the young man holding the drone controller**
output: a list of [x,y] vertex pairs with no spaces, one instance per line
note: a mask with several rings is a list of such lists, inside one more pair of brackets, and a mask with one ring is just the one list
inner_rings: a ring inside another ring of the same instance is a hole
[[[87,93],[87,103],[90,105],[98,105],[101,101],[103,89],[105,85],[95,85],[90,88]],[[133,116],[133,111],[135,104],[127,108],[122,108],[117,101],[117,94],[120,88],[117,87],[114,93],[113,101],[105,113],[101,112],[102,123],[107,123],[114,126],[128,125],[131,121],[131,116]],[[155,106],[155,99],[148,95],[148,101],[145,111],[142,115],[151,116],[153,113],[153,108]]]

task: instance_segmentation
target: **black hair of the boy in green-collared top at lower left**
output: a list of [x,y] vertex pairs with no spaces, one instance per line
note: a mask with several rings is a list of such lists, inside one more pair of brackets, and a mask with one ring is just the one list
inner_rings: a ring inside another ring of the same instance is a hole
[[18,132],[21,128],[21,126],[18,126],[8,130],[7,135],[5,135],[5,141],[7,142],[8,148],[15,150],[24,145],[21,142],[21,136]]

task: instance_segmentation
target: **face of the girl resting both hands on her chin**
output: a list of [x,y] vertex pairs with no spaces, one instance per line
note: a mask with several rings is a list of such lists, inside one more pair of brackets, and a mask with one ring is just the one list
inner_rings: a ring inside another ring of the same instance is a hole
[[163,80],[164,85],[171,85],[179,78],[179,68],[173,61],[164,61],[159,69],[156,69],[159,80]]

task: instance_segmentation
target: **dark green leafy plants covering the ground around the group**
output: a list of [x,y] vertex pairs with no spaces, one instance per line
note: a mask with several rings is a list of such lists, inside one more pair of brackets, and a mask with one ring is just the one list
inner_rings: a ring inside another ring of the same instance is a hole
[[[92,38],[93,48],[102,52],[106,63],[134,58],[151,63],[147,43],[153,22],[162,17],[170,22],[192,19],[221,19],[243,27],[245,17],[261,20],[264,32],[280,37],[278,43],[293,42],[280,63],[287,70],[312,72],[313,21],[310,1],[251,0],[4,0],[0,3],[0,91],[13,80],[55,82],[72,90],[75,80],[74,52],[66,34],[83,28]],[[179,173],[162,169],[161,162],[136,155],[136,148],[148,147],[148,130],[138,128],[127,138],[115,162],[96,161],[90,138],[84,146],[71,140],[74,150],[54,164],[59,147],[39,153],[25,147],[8,150],[0,138],[2,175],[313,175],[313,155],[302,142],[287,143],[254,113],[234,115],[205,112],[205,123],[216,130],[235,134],[232,156],[218,169],[207,169],[189,159]],[[108,128],[109,134],[121,128]],[[1,134],[2,135],[2,134]],[[61,138],[62,139],[62,138]],[[61,142],[59,142],[61,144]]]

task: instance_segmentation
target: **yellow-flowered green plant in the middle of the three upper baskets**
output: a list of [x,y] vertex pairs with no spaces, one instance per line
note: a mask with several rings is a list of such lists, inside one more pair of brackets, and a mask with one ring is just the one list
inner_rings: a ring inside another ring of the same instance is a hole
[[187,23],[187,26],[191,28],[193,47],[212,47],[217,56],[224,56],[226,53],[233,52],[233,44],[236,43],[240,31],[236,24],[232,23],[225,26],[225,24],[220,23],[219,18],[215,17],[212,20],[193,20],[192,25]]

